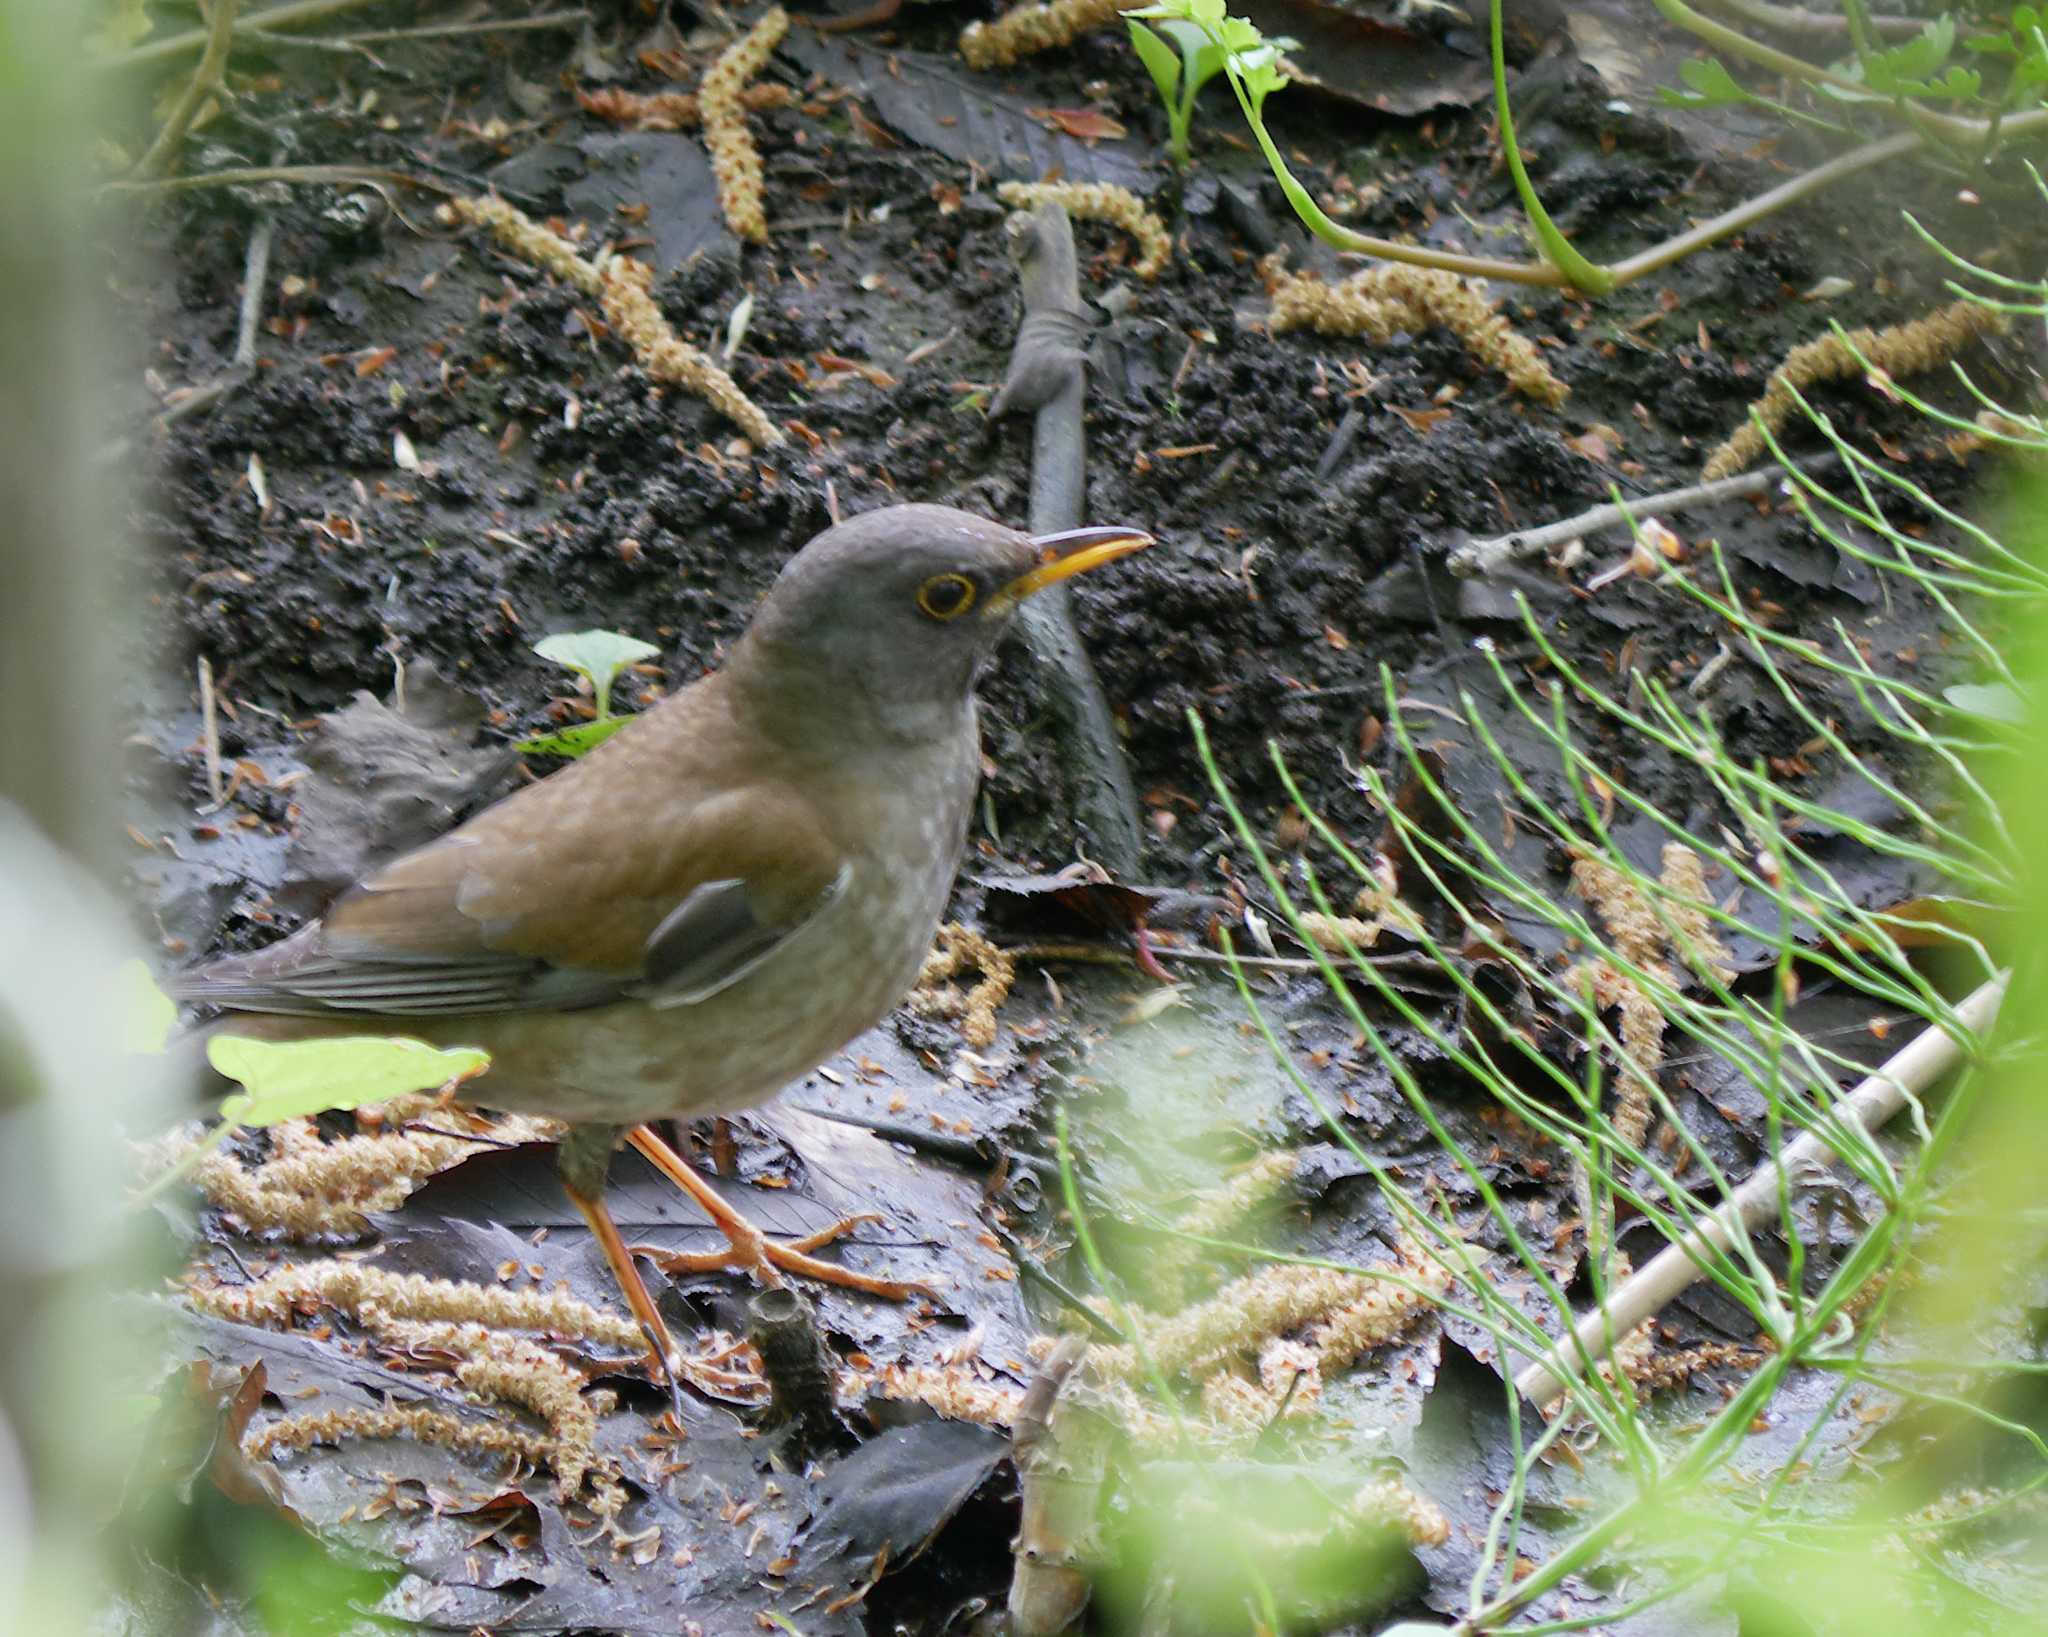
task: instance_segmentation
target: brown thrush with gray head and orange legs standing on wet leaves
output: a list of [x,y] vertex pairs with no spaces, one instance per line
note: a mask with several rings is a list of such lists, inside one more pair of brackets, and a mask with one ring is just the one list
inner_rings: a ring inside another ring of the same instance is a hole
[[975,680],[1016,606],[1151,537],[1030,537],[946,506],[799,551],[721,670],[367,877],[270,949],[168,985],[264,1039],[471,1045],[475,1100],[569,1123],[557,1170],[674,1381],[604,1207],[621,1131],[725,1233],[676,1258],[907,1285],[768,1240],[649,1129],[774,1096],[879,1022],[938,930],[981,770]]

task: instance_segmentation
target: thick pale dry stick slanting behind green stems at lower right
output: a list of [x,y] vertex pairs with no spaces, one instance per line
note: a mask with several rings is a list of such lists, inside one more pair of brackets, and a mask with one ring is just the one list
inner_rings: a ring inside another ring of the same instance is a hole
[[[2011,973],[2001,971],[1972,990],[1956,1008],[1956,1026],[1982,1037],[1999,1016],[2009,977]],[[1909,1098],[1948,1074],[1962,1053],[1964,1047],[1946,1029],[1929,1024],[1853,1092],[1841,1096],[1829,1110],[1829,1123],[1851,1125],[1864,1133],[1876,1131],[1905,1108]],[[1649,1264],[1622,1281],[1606,1307],[1581,1317],[1569,1338],[1528,1365],[1516,1377],[1516,1391],[1536,1408],[1548,1405],[1589,1360],[1599,1360],[1610,1338],[1628,1336],[1638,1324],[1661,1313],[1679,1291],[1704,1276],[1710,1258],[1726,1252],[1739,1233],[1776,1213],[1788,1176],[1829,1170],[1835,1160],[1835,1147],[1825,1137],[1815,1131],[1802,1133],[1683,1240],[1665,1246]]]

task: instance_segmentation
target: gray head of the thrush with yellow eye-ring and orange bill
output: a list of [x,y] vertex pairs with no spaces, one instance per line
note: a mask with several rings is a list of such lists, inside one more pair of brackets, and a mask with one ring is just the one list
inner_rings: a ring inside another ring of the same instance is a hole
[[1026,596],[1149,543],[1137,529],[1032,537],[952,506],[862,512],[788,559],[733,668],[803,695],[807,715],[930,738],[967,709]]

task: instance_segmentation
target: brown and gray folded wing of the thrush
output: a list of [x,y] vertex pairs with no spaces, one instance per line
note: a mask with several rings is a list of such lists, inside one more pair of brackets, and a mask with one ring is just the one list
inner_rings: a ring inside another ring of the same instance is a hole
[[618,803],[557,785],[571,781],[479,813],[348,891],[317,928],[186,992],[393,1016],[692,1004],[844,891],[825,828],[778,789],[700,797],[639,828]]

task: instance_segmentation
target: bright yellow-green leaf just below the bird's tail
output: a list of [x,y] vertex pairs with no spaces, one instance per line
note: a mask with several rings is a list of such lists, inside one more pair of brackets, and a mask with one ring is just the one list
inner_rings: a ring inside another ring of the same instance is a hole
[[430,1092],[489,1067],[475,1047],[444,1051],[424,1041],[346,1037],[338,1041],[252,1041],[215,1035],[207,1061],[244,1090],[221,1102],[229,1125],[276,1125],[330,1108],[360,1108],[406,1092]]

